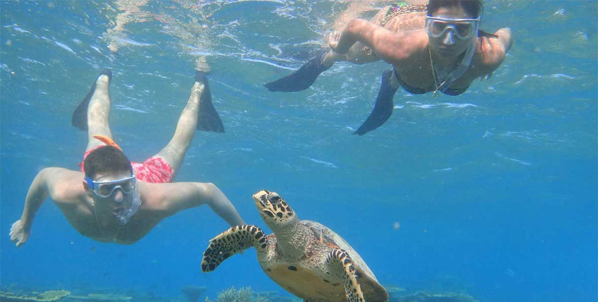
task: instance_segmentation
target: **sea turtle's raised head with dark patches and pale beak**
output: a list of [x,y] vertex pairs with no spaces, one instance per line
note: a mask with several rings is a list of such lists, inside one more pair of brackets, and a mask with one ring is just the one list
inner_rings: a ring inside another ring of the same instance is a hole
[[291,207],[275,192],[261,190],[254,194],[254,202],[270,228],[272,225],[283,225],[297,219]]

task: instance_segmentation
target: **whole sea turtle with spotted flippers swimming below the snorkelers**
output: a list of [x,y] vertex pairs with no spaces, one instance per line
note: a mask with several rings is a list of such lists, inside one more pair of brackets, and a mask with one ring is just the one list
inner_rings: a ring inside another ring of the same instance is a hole
[[388,301],[386,289],[359,254],[325,225],[299,220],[278,194],[254,194],[255,206],[274,234],[237,225],[210,240],[202,270],[211,272],[251,246],[264,272],[282,288],[309,302]]

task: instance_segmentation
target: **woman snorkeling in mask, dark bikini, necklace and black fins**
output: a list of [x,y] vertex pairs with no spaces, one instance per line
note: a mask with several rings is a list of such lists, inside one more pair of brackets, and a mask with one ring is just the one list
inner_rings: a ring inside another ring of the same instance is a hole
[[454,96],[476,78],[490,77],[505,59],[512,37],[509,28],[493,34],[480,30],[482,11],[481,0],[430,0],[385,8],[369,22],[350,21],[341,32],[330,35],[330,51],[264,86],[270,91],[300,91],[334,62],[384,60],[393,69],[383,72],[376,105],[353,133],[364,135],[388,120],[399,87],[413,94]]

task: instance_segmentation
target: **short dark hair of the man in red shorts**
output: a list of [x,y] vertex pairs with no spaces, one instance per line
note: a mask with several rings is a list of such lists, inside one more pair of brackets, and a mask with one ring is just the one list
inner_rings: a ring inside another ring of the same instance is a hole
[[133,173],[131,162],[123,151],[112,146],[97,148],[90,152],[83,160],[83,170],[85,176],[93,179],[97,173],[111,173],[130,171]]

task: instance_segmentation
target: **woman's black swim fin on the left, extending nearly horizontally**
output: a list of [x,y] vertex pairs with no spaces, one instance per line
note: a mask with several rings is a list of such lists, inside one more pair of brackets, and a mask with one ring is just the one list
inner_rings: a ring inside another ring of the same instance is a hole
[[323,51],[323,53],[318,54],[309,60],[309,62],[307,62],[305,65],[301,66],[298,71],[295,71],[284,78],[280,78],[279,80],[264,84],[264,87],[270,91],[284,92],[294,92],[308,89],[310,86],[312,86],[313,82],[316,81],[318,75],[331,67],[324,66],[324,64],[322,64],[322,59],[324,59],[324,56],[327,53],[328,50],[325,52]]

